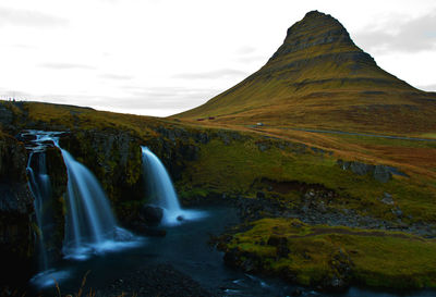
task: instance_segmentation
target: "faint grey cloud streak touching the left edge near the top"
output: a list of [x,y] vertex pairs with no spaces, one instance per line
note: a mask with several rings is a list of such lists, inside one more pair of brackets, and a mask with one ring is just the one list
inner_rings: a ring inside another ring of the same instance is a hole
[[5,25],[29,26],[29,27],[53,27],[66,26],[66,18],[32,11],[11,8],[0,8],[0,27]]

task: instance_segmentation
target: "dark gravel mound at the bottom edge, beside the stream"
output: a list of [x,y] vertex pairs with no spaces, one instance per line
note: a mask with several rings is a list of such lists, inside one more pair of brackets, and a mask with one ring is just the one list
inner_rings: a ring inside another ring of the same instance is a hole
[[97,288],[96,297],[111,296],[159,296],[191,297],[219,296],[203,288],[186,274],[178,271],[171,264],[149,264],[119,276],[104,288]]

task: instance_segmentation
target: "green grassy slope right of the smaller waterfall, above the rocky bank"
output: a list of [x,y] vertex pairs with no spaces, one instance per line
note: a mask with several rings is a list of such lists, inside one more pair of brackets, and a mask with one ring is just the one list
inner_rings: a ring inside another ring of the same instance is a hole
[[[362,214],[395,220],[392,207],[380,202],[386,191],[392,195],[404,216],[436,221],[436,188],[429,181],[393,178],[388,183],[379,183],[372,176],[341,170],[335,158],[308,152],[296,154],[275,146],[261,151],[255,141],[232,141],[226,146],[221,140],[214,139],[203,145],[199,160],[186,169],[185,176],[190,176],[192,183],[182,180],[179,187],[183,189],[187,185],[254,197],[257,189],[252,185],[262,177],[277,182],[296,181],[308,186],[320,184],[339,195],[331,207],[356,209]],[[293,203],[299,202],[301,195],[293,191],[281,197]]]

